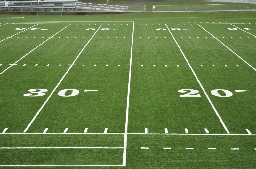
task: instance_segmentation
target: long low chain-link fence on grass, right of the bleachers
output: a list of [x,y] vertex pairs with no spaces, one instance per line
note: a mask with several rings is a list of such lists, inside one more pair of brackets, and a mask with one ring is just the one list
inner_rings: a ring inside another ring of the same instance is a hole
[[256,4],[152,5],[152,12],[256,11]]

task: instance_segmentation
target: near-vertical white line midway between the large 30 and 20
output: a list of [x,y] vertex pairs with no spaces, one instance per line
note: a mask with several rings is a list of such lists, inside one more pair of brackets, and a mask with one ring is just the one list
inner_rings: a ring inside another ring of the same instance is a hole
[[[132,46],[133,46],[133,35],[134,35],[134,22],[133,22],[133,26],[132,26]],[[132,46],[131,46],[129,81],[128,81],[128,91],[127,91],[125,131],[124,131],[125,133],[127,133],[127,131],[128,131],[129,99],[130,99],[131,74],[132,74]],[[126,166],[126,148],[127,148],[127,134],[124,134],[123,166]]]

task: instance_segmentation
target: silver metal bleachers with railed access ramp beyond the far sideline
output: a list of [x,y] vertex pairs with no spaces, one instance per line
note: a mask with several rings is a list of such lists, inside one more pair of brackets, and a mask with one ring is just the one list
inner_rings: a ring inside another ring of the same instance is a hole
[[0,1],[0,11],[90,11],[90,12],[145,12],[145,5],[105,5],[80,3],[78,0]]

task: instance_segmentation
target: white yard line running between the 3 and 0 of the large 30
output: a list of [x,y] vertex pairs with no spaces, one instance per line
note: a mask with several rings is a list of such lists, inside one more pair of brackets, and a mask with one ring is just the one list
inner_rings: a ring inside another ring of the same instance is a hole
[[[69,25],[68,25],[69,26]],[[67,27],[68,27],[67,26]],[[102,26],[102,24],[100,25],[100,27]],[[98,32],[98,30],[100,29],[100,27],[97,29],[97,31],[92,35],[92,37],[90,38],[90,40],[86,43],[86,45],[84,46],[84,48],[89,44],[89,42],[92,40],[92,38],[94,37],[94,35]],[[64,28],[65,29],[65,28]],[[28,126],[26,127],[26,129],[23,131],[23,133],[25,133],[28,128],[30,127],[30,125],[34,122],[34,120],[36,119],[37,115],[41,112],[41,110],[44,108],[44,105],[48,102],[48,100],[51,98],[52,94],[55,92],[55,90],[58,88],[58,86],[60,85],[61,81],[64,79],[64,77],[68,74],[69,70],[71,69],[71,67],[74,65],[74,63],[76,62],[76,60],[78,59],[78,57],[80,56],[80,54],[84,51],[84,48],[81,50],[81,52],[78,54],[78,56],[76,57],[76,59],[73,61],[73,63],[70,65],[70,67],[68,68],[67,72],[64,74],[64,76],[60,79],[59,83],[57,84],[57,86],[52,90],[52,93],[48,96],[48,98],[46,99],[46,101],[44,102],[44,104],[41,106],[41,108],[38,110],[38,112],[36,113],[36,115],[34,116],[34,118],[31,120],[31,122],[28,124]]]

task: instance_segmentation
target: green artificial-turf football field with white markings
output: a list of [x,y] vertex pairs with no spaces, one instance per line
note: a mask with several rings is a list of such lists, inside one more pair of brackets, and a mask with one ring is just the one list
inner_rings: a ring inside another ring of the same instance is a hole
[[0,168],[255,168],[256,17],[2,16]]

